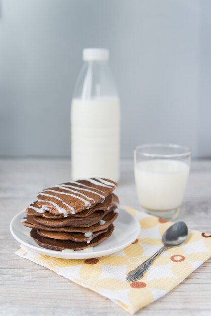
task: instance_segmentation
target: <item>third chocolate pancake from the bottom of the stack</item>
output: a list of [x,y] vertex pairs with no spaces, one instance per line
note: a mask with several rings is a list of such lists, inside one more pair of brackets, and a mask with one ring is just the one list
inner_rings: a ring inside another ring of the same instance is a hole
[[35,221],[35,217],[32,215],[28,215],[26,217],[26,222],[22,222],[22,224],[26,227],[30,228],[35,228],[35,229],[40,229],[40,230],[46,230],[46,231],[53,231],[53,232],[68,232],[68,233],[73,233],[73,232],[79,232],[79,233],[86,233],[86,232],[97,232],[100,230],[103,230],[107,228],[114,220],[117,218],[118,213],[116,212],[109,212],[108,214],[105,214],[104,217],[102,218],[103,224],[97,223],[89,227],[50,227],[50,226],[45,226],[42,224],[37,223]]

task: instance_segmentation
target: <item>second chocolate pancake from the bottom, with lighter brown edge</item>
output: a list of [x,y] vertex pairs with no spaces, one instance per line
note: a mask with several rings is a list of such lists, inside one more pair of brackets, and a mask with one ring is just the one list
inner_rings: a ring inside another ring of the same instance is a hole
[[[107,232],[108,228],[100,230],[94,233],[64,233],[64,232],[49,232],[46,230],[37,229],[37,233],[42,237],[59,239],[59,240],[72,240],[72,241],[85,241],[89,243],[93,238]],[[89,235],[90,234],[90,235]],[[91,235],[92,234],[92,235]]]

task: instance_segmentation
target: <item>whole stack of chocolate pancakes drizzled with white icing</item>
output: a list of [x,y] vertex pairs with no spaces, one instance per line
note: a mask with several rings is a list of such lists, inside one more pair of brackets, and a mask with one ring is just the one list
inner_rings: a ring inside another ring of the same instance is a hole
[[38,245],[60,251],[82,250],[111,236],[118,216],[116,183],[104,178],[54,185],[38,193],[23,225]]

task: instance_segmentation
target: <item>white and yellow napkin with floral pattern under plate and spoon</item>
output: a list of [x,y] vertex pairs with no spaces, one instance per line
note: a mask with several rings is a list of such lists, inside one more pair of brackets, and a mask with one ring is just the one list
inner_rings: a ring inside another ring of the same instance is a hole
[[162,246],[161,237],[171,222],[125,209],[139,219],[141,233],[130,246],[113,255],[86,260],[58,259],[25,246],[16,251],[63,277],[89,288],[134,314],[181,283],[211,256],[211,235],[189,230],[186,243],[163,252],[140,281],[126,282],[127,273]]

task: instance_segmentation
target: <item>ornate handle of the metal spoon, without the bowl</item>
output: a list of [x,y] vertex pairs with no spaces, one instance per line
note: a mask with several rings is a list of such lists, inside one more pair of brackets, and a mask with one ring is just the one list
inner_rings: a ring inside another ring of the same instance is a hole
[[163,246],[161,249],[159,249],[155,254],[153,254],[149,259],[144,261],[140,266],[136,267],[134,270],[128,272],[126,280],[128,282],[134,282],[139,279],[141,279],[145,273],[145,271],[149,268],[149,266],[152,264],[154,259],[162,253],[164,250],[166,250],[168,247]]

